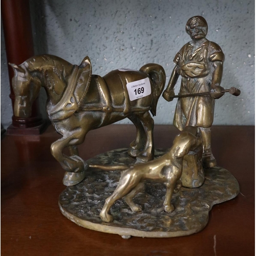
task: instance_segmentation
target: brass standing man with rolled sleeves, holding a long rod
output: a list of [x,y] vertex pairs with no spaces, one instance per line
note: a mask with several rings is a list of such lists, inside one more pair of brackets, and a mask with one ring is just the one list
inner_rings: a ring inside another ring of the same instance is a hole
[[211,153],[211,124],[214,120],[215,99],[224,94],[220,86],[224,54],[215,42],[205,38],[207,29],[207,22],[203,17],[195,16],[188,19],[186,32],[192,40],[176,54],[176,66],[163,97],[167,101],[173,100],[174,87],[179,75],[182,77],[179,95],[212,92],[204,96],[179,98],[174,125],[180,131],[185,126],[200,127],[203,138],[203,165],[214,167],[217,163]]

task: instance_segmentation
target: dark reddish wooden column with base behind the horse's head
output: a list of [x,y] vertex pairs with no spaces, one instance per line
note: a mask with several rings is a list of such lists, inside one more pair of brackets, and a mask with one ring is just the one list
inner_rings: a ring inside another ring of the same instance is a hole
[[[3,0],[1,1],[1,13],[7,62],[19,65],[34,55],[29,0]],[[11,84],[14,72],[9,65],[8,73],[13,109],[15,94]],[[12,125],[8,127],[7,134],[38,135],[42,133],[47,127],[47,122],[41,119],[39,110],[38,99],[36,99],[32,105],[31,118],[13,116]]]

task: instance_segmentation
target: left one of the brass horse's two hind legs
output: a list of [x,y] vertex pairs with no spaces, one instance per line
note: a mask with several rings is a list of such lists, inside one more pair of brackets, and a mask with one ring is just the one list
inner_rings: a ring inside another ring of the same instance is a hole
[[146,143],[146,136],[144,127],[137,116],[130,116],[129,119],[136,126],[136,139],[130,144],[128,154],[132,157],[137,157],[137,155],[143,150]]

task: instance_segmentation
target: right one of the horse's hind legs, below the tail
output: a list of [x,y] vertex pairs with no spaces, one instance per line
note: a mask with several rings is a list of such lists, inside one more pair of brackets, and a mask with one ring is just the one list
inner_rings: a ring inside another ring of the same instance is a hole
[[137,156],[136,163],[148,162],[154,159],[155,147],[154,147],[154,120],[150,113],[147,111],[144,114],[138,115],[141,122],[146,129],[146,143],[144,150]]

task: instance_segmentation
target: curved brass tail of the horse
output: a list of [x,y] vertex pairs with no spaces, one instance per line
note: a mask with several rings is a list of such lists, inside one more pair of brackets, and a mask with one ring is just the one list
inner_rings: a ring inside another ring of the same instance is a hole
[[165,86],[165,71],[162,66],[155,63],[148,63],[144,65],[140,68],[140,71],[146,73],[150,77],[151,82],[153,83],[153,99],[150,111],[152,115],[155,116],[157,112],[157,102]]

